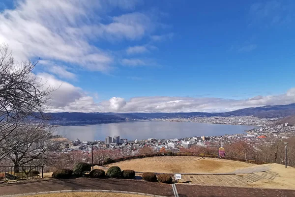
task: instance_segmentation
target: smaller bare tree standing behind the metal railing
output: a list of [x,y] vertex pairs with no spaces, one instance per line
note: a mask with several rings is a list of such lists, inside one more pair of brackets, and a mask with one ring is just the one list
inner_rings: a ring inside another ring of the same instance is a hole
[[[53,152],[59,150],[62,142],[53,136],[51,127],[45,127],[42,123],[25,124],[14,129],[12,133],[19,134],[14,139],[18,141],[19,146],[13,148],[8,158],[13,163],[15,172],[21,169],[26,174],[31,170],[28,166],[52,163],[55,157]],[[12,147],[6,148],[10,150]]]

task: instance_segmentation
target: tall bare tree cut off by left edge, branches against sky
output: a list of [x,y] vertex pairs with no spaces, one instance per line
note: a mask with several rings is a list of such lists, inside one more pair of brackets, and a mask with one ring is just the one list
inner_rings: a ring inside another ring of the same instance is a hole
[[29,118],[47,119],[43,111],[53,89],[32,73],[36,63],[17,63],[8,50],[0,45],[0,160],[24,146],[15,131]]

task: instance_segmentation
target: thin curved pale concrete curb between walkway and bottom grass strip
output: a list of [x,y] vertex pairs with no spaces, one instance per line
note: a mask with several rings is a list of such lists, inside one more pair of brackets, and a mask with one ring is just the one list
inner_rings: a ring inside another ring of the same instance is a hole
[[58,194],[58,193],[71,193],[71,192],[105,192],[105,193],[122,193],[122,194],[142,195],[142,196],[148,196],[148,197],[166,197],[166,196],[158,196],[158,195],[145,194],[145,193],[116,191],[116,190],[59,190],[59,191],[50,191],[50,192],[14,194],[14,195],[6,195],[6,196],[0,196],[0,197],[25,197],[25,196],[34,196],[34,195],[42,195],[42,194]]

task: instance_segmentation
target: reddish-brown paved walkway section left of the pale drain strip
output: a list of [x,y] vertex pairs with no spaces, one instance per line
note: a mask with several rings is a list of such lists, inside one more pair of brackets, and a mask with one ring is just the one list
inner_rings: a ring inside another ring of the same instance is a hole
[[113,178],[49,179],[0,184],[0,196],[57,190],[118,190],[168,197],[173,195],[172,187],[169,184]]

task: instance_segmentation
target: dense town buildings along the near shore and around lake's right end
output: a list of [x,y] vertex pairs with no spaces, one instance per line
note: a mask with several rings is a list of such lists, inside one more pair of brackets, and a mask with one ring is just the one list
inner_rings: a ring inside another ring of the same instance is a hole
[[192,136],[190,138],[177,139],[155,139],[146,140],[127,140],[120,139],[119,136],[107,136],[105,141],[66,141],[63,143],[62,152],[71,152],[81,150],[89,153],[91,147],[96,149],[118,149],[128,151],[130,154],[137,154],[138,150],[148,146],[154,151],[165,148],[167,151],[176,152],[179,148],[190,148],[193,145],[198,146],[222,146],[225,143],[235,141],[246,141],[253,147],[263,144],[265,141],[273,139],[288,139],[295,134],[295,127],[285,124],[274,124],[276,119],[257,118],[253,116],[236,117],[192,117],[192,118],[173,118],[173,119],[153,119],[153,121],[179,121],[179,122],[205,122],[214,124],[243,124],[253,125],[253,129],[245,131],[242,134],[231,134],[223,136]]

